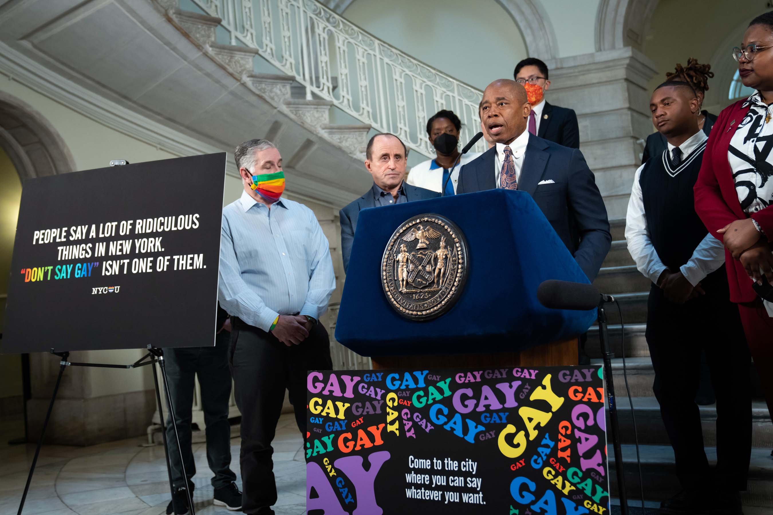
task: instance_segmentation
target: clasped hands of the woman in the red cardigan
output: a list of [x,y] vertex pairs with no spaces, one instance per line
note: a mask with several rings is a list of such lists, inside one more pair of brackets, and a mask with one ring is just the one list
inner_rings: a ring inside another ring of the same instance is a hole
[[736,220],[718,230],[723,235],[724,246],[733,259],[741,261],[746,273],[758,284],[764,276],[773,284],[773,253],[768,239],[762,235],[751,219]]

